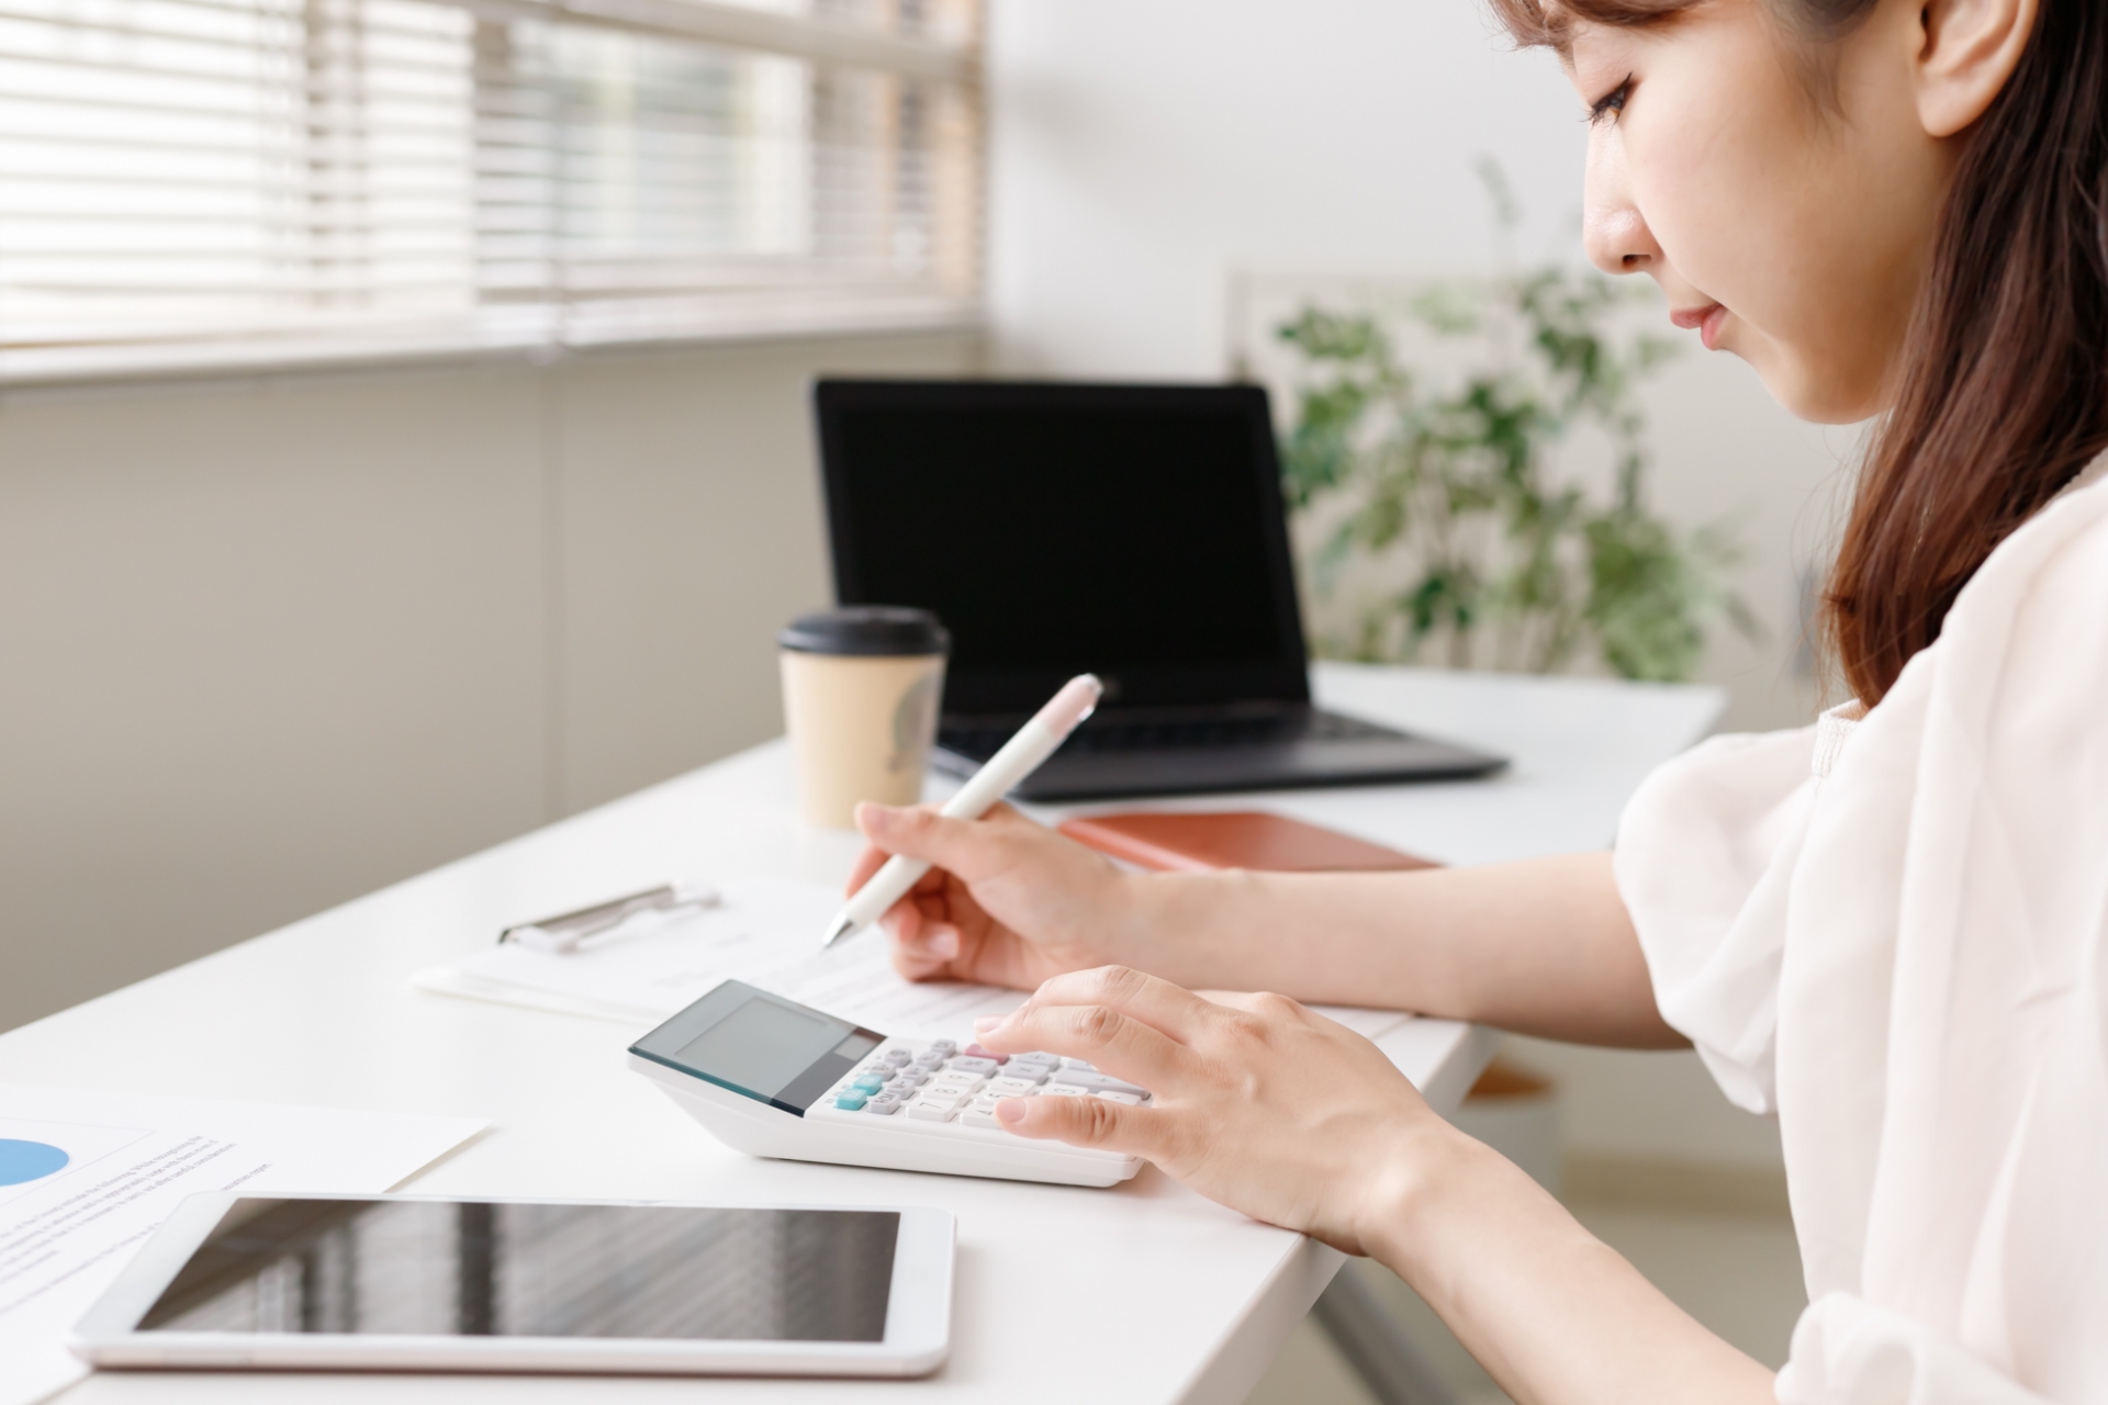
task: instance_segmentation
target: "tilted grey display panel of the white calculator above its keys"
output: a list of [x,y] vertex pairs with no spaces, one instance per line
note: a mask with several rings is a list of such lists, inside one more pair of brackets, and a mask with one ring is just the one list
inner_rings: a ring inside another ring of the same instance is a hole
[[725,982],[637,1041],[632,1053],[803,1116],[881,1043],[883,1034],[847,1020]]

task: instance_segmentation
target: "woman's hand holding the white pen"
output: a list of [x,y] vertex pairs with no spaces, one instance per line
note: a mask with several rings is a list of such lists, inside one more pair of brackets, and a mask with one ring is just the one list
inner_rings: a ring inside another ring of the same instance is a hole
[[894,853],[932,866],[883,918],[909,979],[1035,990],[1062,971],[1140,961],[1136,878],[1008,805],[946,819],[928,805],[864,803],[856,828],[871,847],[847,891]]

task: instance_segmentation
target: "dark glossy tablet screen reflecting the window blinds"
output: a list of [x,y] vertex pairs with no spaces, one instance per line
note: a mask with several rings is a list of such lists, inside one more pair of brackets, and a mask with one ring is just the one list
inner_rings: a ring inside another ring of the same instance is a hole
[[240,1199],[139,1331],[883,1342],[900,1215]]

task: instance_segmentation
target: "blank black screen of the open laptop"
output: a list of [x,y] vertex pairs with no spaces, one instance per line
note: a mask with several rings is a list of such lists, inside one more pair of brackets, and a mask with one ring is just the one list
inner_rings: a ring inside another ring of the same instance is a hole
[[822,381],[835,590],[951,630],[951,714],[1307,699],[1267,396]]

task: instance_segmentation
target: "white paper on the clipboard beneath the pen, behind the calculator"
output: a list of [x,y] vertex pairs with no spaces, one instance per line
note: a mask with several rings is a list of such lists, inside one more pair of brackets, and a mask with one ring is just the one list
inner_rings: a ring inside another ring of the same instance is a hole
[[[906,982],[877,931],[816,950],[812,933],[824,931],[839,910],[841,895],[812,883],[725,885],[715,908],[647,914],[575,952],[538,952],[508,942],[419,971],[411,984],[436,994],[649,1026],[719,982],[742,979],[900,1038],[972,1034],[978,1015],[1003,1015],[1024,1001],[1024,992],[999,986]],[[1318,1009],[1368,1038],[1410,1020],[1398,1011]]]

